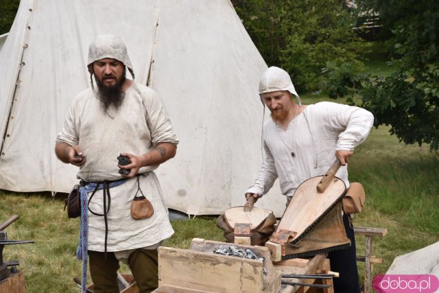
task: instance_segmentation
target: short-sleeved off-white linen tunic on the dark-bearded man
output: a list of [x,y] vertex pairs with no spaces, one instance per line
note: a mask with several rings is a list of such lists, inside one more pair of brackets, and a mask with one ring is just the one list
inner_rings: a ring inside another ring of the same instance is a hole
[[[80,93],[73,99],[62,132],[56,139],[57,143],[80,145],[87,156],[86,163],[78,172],[78,178],[84,181],[121,179],[117,167],[117,156],[121,152],[139,156],[153,150],[158,143],[178,144],[165,107],[147,86],[130,86],[120,108],[117,111],[110,108],[110,115],[104,114],[100,107],[91,89]],[[131,202],[137,192],[136,177],[110,189],[107,251],[152,246],[174,233],[160,184],[154,174],[157,167],[142,167],[139,170],[145,175],[139,176],[141,191],[154,208],[150,218],[134,220],[131,217]],[[95,213],[104,213],[102,194],[102,189],[98,190],[90,202],[89,207]],[[90,196],[91,193],[88,198]],[[88,250],[104,251],[104,240],[104,217],[88,211]]]

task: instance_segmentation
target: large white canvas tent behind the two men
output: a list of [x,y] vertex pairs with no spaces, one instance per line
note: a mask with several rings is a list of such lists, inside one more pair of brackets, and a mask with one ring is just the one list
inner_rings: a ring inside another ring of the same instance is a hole
[[[108,33],[125,41],[137,82],[162,97],[180,139],[156,171],[169,208],[204,215],[244,204],[262,160],[266,65],[228,0],[22,0],[0,51],[0,189],[68,192],[77,182],[55,138],[89,86],[88,44]],[[257,205],[280,216],[279,194]]]

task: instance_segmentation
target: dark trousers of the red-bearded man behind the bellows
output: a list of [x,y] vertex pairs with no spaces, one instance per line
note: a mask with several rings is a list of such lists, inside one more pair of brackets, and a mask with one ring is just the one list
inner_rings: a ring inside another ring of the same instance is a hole
[[355,235],[346,214],[343,215],[343,224],[346,229],[346,235],[351,239],[351,247],[328,254],[328,258],[331,261],[331,270],[340,273],[339,278],[333,278],[334,292],[359,293]]

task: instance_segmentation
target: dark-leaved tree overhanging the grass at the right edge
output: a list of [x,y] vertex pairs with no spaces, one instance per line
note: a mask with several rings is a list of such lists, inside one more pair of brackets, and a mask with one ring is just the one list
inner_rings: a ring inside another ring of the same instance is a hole
[[330,73],[331,97],[353,91],[360,106],[375,115],[375,126],[407,144],[439,148],[439,2],[436,0],[359,0],[359,13],[379,12],[392,32],[387,40],[397,70],[388,77],[360,75],[337,68]]

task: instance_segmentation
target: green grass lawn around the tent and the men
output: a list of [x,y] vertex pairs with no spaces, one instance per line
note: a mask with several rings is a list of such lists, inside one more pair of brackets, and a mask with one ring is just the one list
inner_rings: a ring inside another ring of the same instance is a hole
[[[349,172],[351,180],[366,189],[366,205],[355,215],[355,225],[388,228],[388,235],[373,239],[372,254],[383,258],[374,266],[374,275],[388,270],[397,255],[439,241],[439,159],[428,145],[403,145],[388,134],[388,128],[374,128],[355,150]],[[5,260],[19,259],[26,292],[78,292],[72,279],[81,273],[74,256],[79,221],[67,219],[63,198],[0,191],[0,222],[20,215],[5,229],[9,238],[35,241],[3,250]],[[194,237],[224,241],[215,220],[200,216],[172,221],[176,233],[165,246],[189,248]],[[357,237],[357,254],[364,255],[363,237]],[[364,263],[358,268],[362,278]],[[126,266],[121,271],[129,272]]]

